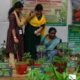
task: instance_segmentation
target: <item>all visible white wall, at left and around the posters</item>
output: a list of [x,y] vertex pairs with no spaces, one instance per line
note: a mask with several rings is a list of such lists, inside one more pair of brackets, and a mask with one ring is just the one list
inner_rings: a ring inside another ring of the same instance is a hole
[[[3,40],[6,40],[7,29],[8,29],[7,13],[10,7],[11,7],[11,0],[0,1],[0,44],[3,42]],[[71,2],[70,0],[68,0],[68,16],[67,16],[68,24],[72,23],[71,19],[72,19]],[[60,37],[63,40],[63,42],[66,42],[68,35],[68,26],[56,26],[56,29],[57,29],[57,36]]]

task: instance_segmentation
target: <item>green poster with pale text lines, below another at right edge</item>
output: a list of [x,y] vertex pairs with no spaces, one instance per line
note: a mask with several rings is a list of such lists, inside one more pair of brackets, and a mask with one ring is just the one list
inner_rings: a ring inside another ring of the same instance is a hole
[[80,53],[80,26],[70,25],[68,28],[69,47],[73,53]]

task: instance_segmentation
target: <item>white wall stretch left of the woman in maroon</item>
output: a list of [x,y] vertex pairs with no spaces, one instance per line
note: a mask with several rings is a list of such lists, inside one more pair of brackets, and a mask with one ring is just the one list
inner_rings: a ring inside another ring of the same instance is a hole
[[0,0],[0,44],[6,40],[8,29],[8,10],[11,6],[11,0]]

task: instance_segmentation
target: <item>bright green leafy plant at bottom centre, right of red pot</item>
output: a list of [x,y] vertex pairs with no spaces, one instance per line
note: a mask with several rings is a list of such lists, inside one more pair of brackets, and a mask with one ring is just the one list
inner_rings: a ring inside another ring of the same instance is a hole
[[27,75],[25,80],[52,80],[50,75],[41,73],[40,68],[34,68]]

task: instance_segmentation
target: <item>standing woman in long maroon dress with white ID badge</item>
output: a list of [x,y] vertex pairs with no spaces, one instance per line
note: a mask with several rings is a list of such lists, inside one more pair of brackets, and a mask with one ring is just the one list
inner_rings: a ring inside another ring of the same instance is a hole
[[[16,11],[17,15],[20,16],[22,10],[23,4],[18,1],[12,6],[12,8],[10,8],[8,13],[9,28],[7,31],[6,51],[7,57],[10,57],[10,60],[12,60],[12,62],[14,61],[14,57],[18,60],[21,60],[24,50],[22,27],[18,26],[16,17],[13,13],[14,11]],[[12,62],[11,64],[12,66],[14,66]]]

